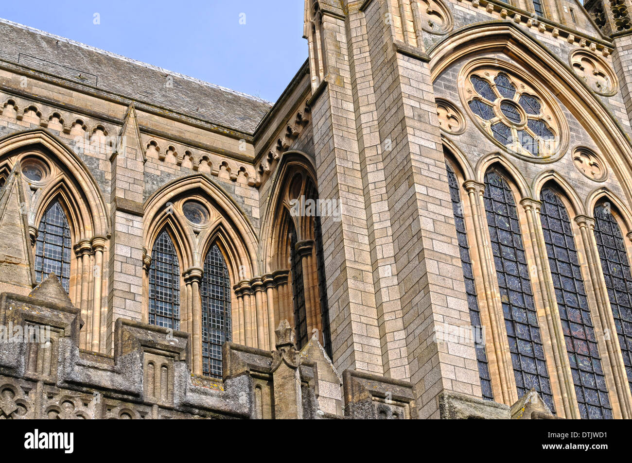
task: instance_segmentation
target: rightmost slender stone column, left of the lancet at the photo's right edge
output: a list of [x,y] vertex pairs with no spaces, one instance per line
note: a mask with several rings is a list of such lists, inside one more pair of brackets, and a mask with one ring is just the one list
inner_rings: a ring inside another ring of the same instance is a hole
[[630,396],[628,375],[623,364],[621,347],[619,347],[617,330],[614,326],[614,319],[611,316],[609,297],[605,289],[605,281],[601,270],[599,251],[597,250],[594,234],[595,219],[586,215],[578,215],[575,217],[575,222],[580,227],[581,241],[583,241],[588,271],[590,272],[590,286],[595,292],[595,302],[597,303],[597,312],[599,314],[597,320],[599,320],[601,332],[604,333],[605,346],[608,351],[607,358],[604,360],[610,364],[612,369],[614,387],[621,406],[621,415],[623,418],[628,419],[632,417],[632,397]]

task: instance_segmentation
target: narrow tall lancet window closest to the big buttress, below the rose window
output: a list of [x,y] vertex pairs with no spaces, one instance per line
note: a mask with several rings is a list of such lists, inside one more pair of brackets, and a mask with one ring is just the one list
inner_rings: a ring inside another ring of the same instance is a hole
[[[463,269],[463,280],[465,280],[465,293],[468,298],[468,307],[470,308],[470,321],[472,327],[482,332],[483,323],[480,320],[480,310],[478,309],[478,298],[470,259],[470,246],[468,245],[468,237],[465,229],[465,215],[463,215],[463,203],[461,203],[461,195],[459,195],[459,183],[452,167],[447,163],[446,169],[452,199],[452,210],[454,212],[454,225],[456,225],[456,238],[458,238],[459,250],[461,252],[461,268]],[[489,375],[489,365],[487,364],[487,354],[485,353],[485,339],[483,339],[483,342],[476,342],[475,347],[478,361],[478,376],[480,377],[483,399],[494,400],[492,381]]]

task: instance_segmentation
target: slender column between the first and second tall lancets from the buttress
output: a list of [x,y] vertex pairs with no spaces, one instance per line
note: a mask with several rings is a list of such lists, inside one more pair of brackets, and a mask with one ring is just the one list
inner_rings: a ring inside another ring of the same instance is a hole
[[489,246],[487,246],[487,235],[485,234],[485,227],[487,227],[487,220],[482,213],[482,197],[485,193],[485,184],[478,183],[473,180],[468,180],[463,183],[465,189],[468,192],[468,198],[470,203],[470,209],[472,219],[474,221],[474,235],[476,239],[476,246],[478,251],[478,263],[481,268],[481,275],[483,278],[483,287],[485,288],[485,305],[487,306],[487,312],[489,316],[490,328],[492,332],[492,339],[494,340],[494,346],[492,349],[487,349],[487,356],[492,354],[495,359],[496,368],[498,369],[501,397],[497,400],[502,403],[511,405],[515,402],[517,393],[513,392],[511,385],[512,371],[509,369],[510,363],[507,363],[506,356],[502,351],[504,346],[504,340],[506,334],[502,330],[504,320],[502,320],[502,306],[499,303],[500,299],[497,297],[498,292],[495,286],[495,279],[492,272],[492,268],[489,263],[492,262],[492,256],[489,254]]

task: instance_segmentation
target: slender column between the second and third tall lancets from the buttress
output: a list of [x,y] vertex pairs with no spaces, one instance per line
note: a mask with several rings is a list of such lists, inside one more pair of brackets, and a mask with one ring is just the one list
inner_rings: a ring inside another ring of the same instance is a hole
[[[553,351],[553,360],[557,376],[557,383],[562,397],[564,416],[566,418],[580,418],[577,400],[573,388],[573,377],[571,376],[570,365],[566,353],[566,342],[562,334],[562,325],[559,322],[559,311],[557,309],[556,294],[553,289],[553,282],[550,278],[549,258],[544,249],[544,236],[539,233],[542,229],[540,225],[540,201],[532,198],[523,198],[520,204],[525,209],[526,222],[531,238],[533,257],[535,258],[535,270],[542,294],[544,304],[544,315],[547,321],[550,343]],[[555,316],[555,320],[554,317]],[[553,379],[553,378],[551,378]],[[553,385],[552,385],[553,386]]]

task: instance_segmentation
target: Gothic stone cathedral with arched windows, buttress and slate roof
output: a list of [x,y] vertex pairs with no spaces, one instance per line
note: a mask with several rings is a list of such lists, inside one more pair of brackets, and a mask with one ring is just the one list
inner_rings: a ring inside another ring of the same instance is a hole
[[306,0],[274,104],[0,20],[0,419],[632,418],[631,12]]

